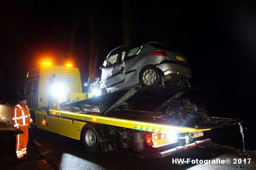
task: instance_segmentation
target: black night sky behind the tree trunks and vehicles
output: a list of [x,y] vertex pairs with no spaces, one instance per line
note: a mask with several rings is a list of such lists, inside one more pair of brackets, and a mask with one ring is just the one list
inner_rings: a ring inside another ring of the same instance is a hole
[[[215,116],[247,119],[254,113],[256,3],[249,1],[133,1],[136,41],[160,41],[189,59],[199,105]],[[101,55],[122,44],[122,3],[99,3]],[[67,61],[70,17],[85,16],[75,38],[82,80],[88,76],[90,3],[87,1],[1,1],[0,100],[15,98],[17,82],[50,55]],[[99,70],[100,74],[100,70]]]

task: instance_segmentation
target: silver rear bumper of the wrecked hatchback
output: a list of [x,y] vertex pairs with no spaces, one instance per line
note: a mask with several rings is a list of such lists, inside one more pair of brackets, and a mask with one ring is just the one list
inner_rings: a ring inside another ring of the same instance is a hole
[[157,68],[163,71],[163,74],[169,75],[169,74],[177,74],[183,77],[192,78],[191,70],[190,68],[187,68],[182,65],[173,64],[173,63],[164,63],[160,65],[156,65]]

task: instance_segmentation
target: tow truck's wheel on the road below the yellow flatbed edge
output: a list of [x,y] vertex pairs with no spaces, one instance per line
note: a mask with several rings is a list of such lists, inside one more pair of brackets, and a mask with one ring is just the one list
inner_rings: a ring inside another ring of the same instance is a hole
[[85,127],[83,132],[83,144],[86,150],[92,153],[99,151],[99,137],[92,127]]

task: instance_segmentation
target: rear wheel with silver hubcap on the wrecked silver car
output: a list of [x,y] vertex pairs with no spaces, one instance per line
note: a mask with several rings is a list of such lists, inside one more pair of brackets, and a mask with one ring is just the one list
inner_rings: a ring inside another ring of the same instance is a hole
[[140,82],[144,87],[154,88],[158,85],[160,74],[157,68],[148,67],[143,69],[140,76]]

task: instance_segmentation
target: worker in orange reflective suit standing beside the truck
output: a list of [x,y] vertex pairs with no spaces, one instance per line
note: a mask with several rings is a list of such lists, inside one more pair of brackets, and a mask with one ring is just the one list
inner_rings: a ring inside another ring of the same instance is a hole
[[22,158],[26,152],[26,146],[29,141],[29,125],[33,122],[29,108],[26,105],[25,96],[18,96],[19,103],[12,110],[12,122],[15,128],[16,154],[17,159]]

